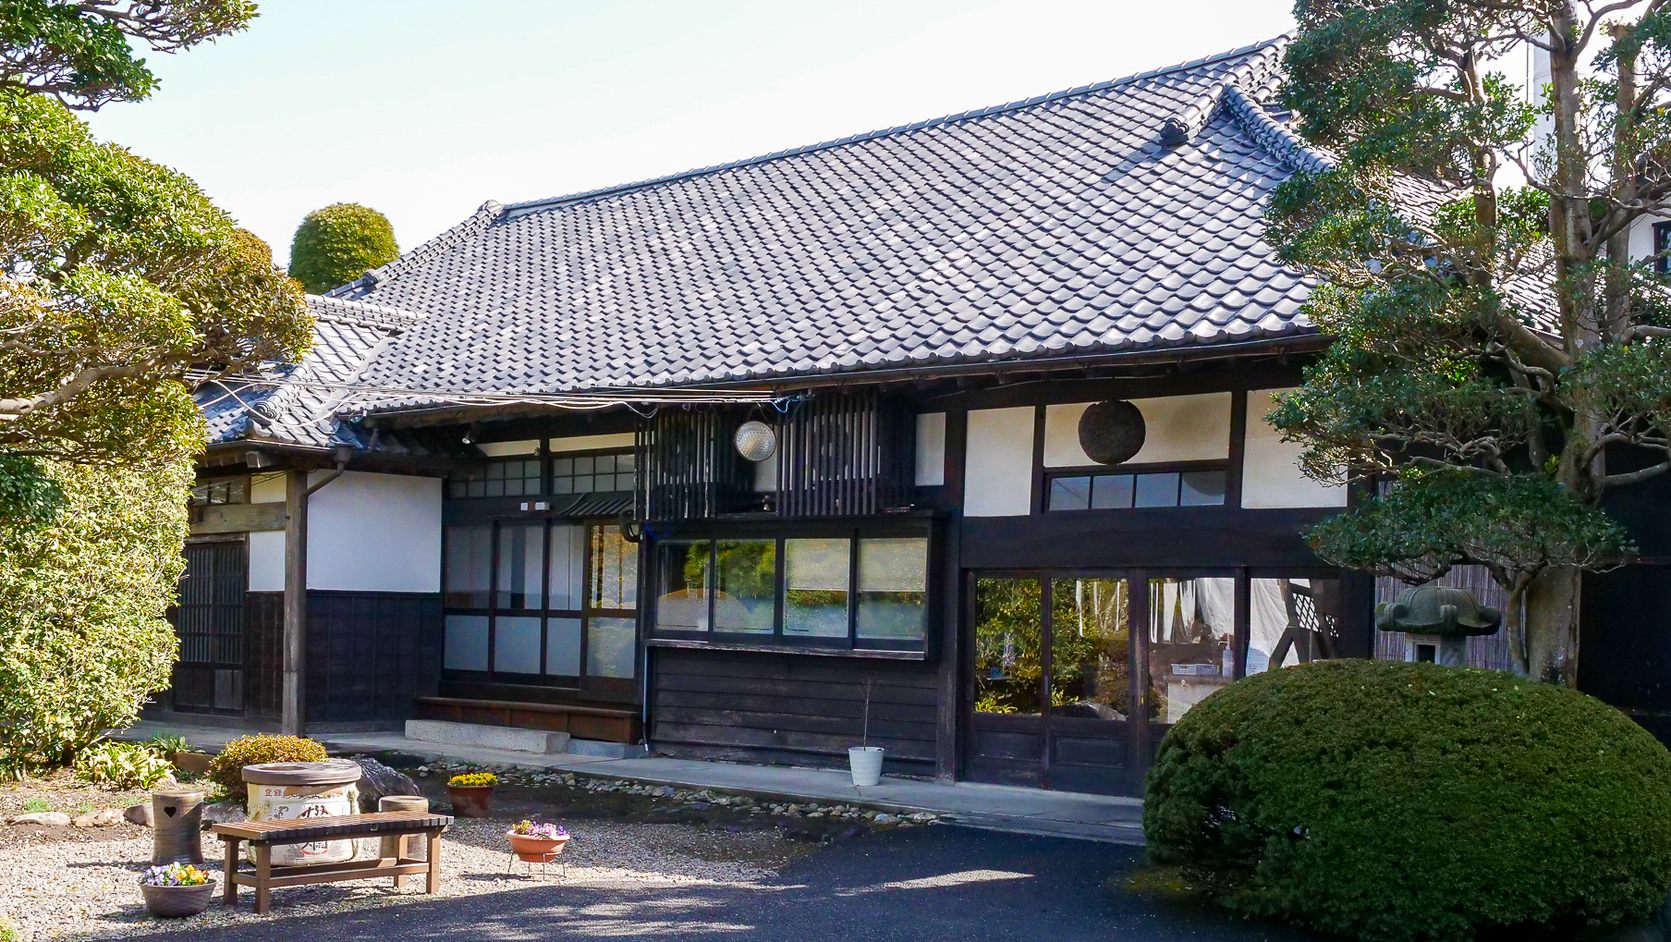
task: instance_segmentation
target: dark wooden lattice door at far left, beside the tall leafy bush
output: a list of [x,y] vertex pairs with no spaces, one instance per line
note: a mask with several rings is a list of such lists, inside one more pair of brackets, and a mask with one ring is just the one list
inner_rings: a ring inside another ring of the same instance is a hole
[[249,558],[242,541],[190,543],[180,576],[174,631],[172,703],[180,712],[244,712],[244,596]]

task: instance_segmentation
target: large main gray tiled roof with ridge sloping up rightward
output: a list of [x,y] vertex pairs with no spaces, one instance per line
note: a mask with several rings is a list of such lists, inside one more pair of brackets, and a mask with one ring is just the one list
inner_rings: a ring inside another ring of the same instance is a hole
[[1308,332],[1313,282],[1263,239],[1322,160],[1262,107],[1280,53],[490,202],[331,296],[423,316],[363,374],[438,394],[404,404]]

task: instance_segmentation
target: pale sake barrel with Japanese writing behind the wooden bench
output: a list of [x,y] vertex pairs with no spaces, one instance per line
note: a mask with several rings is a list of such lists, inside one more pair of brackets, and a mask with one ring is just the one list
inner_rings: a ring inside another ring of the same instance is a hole
[[[246,765],[249,787],[249,820],[277,822],[359,813],[361,768],[354,762],[267,762]],[[319,840],[312,843],[276,843],[272,862],[296,867],[304,864],[341,864],[354,858],[353,840]]]

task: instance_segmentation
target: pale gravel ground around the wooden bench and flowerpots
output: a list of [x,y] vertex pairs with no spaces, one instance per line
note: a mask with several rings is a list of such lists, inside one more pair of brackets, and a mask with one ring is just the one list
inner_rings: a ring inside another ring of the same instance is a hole
[[[416,770],[414,770],[416,772]],[[444,777],[456,768],[429,767],[419,775],[436,807],[444,800]],[[630,782],[576,780],[571,775],[530,775],[500,770],[493,817],[458,818],[441,838],[439,897],[470,897],[506,890],[540,892],[570,887],[587,892],[680,889],[725,892],[760,887],[784,865],[819,847],[867,830],[911,827],[891,815],[849,805],[772,803],[712,792],[638,787]],[[144,792],[107,793],[69,780],[23,783],[0,790],[0,813],[18,813],[30,800],[52,810],[124,807]],[[444,810],[444,808],[443,808]],[[541,872],[510,865],[505,830],[521,817],[555,820],[575,835],[563,860]],[[924,815],[926,818],[929,815]],[[110,939],[177,929],[261,925],[276,919],[336,914],[361,907],[433,899],[423,879],[394,890],[391,880],[358,880],[274,890],[272,912],[252,912],[254,890],[239,890],[239,907],[221,905],[185,920],[159,920],[144,909],[139,874],[150,864],[149,828],[0,827],[0,914],[28,942]],[[374,842],[363,842],[363,853]],[[204,865],[219,875],[221,842],[204,833]],[[510,867],[508,867],[510,865]]]

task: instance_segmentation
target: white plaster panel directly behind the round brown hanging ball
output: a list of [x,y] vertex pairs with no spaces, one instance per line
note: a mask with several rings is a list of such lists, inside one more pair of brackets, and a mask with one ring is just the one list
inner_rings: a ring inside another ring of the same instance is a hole
[[[1143,413],[1143,448],[1131,463],[1218,461],[1230,458],[1230,392],[1133,399]],[[1079,448],[1079,416],[1089,403],[1044,406],[1044,466],[1096,464]]]

